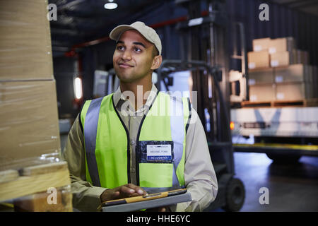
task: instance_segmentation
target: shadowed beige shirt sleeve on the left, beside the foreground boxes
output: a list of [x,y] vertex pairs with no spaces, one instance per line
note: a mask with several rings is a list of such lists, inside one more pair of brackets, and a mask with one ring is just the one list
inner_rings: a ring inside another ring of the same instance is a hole
[[81,211],[97,211],[98,206],[101,204],[100,195],[106,189],[93,186],[86,181],[83,131],[78,117],[76,117],[69,131],[62,157],[69,166],[73,207]]

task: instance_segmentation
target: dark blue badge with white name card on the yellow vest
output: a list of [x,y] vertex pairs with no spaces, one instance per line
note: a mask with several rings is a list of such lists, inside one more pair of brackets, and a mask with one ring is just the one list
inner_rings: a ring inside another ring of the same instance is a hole
[[172,163],[172,141],[139,141],[141,162],[148,163]]

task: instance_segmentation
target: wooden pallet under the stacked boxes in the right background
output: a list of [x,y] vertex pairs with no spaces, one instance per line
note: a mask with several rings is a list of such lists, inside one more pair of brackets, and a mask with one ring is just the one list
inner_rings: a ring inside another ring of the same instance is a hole
[[243,101],[241,102],[241,107],[318,107],[318,98],[261,102]]

